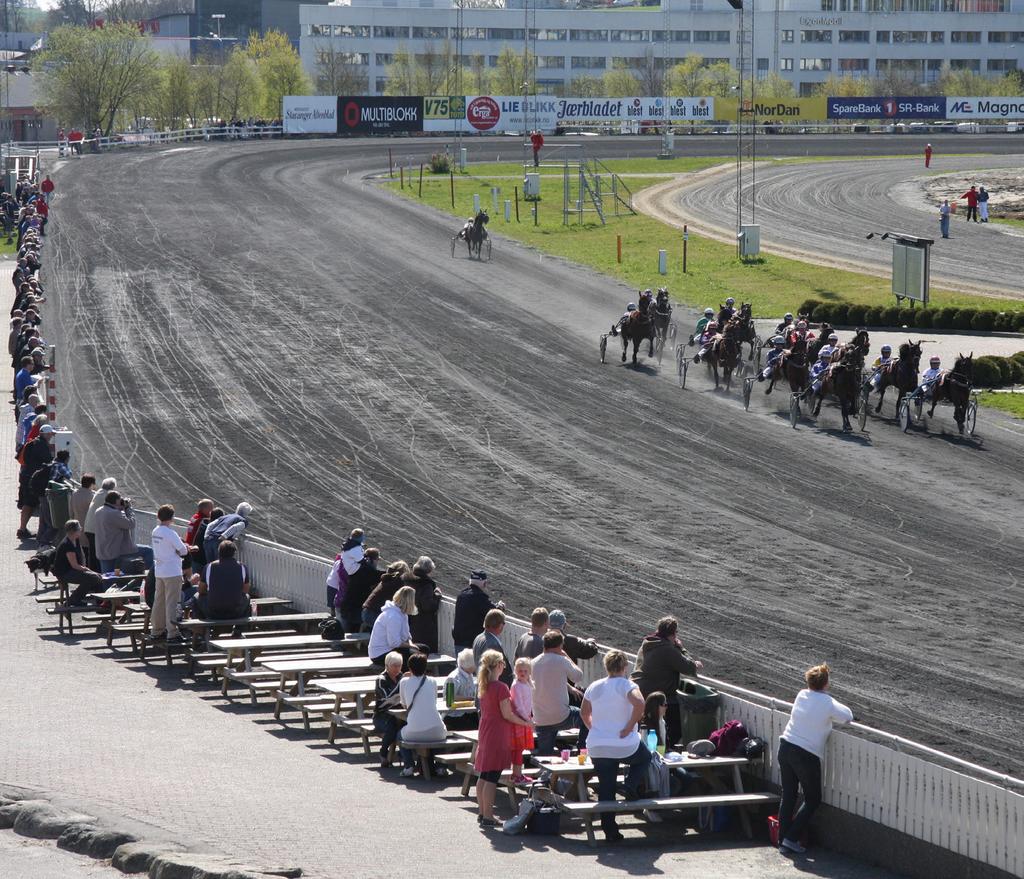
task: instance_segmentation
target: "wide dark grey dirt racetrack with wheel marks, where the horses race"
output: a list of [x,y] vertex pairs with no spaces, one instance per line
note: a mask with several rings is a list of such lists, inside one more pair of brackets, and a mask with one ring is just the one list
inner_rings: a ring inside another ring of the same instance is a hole
[[46,328],[86,468],[140,506],[249,499],[323,553],[361,525],[449,591],[485,567],[517,615],[561,605],[629,648],[675,613],[709,674],[779,696],[824,659],[865,722],[1024,768],[1019,422],[795,432],[781,404],[681,391],[668,359],[602,367],[630,291],[499,236],[492,263],[452,259],[450,218],[364,181],[382,155],[60,170]]

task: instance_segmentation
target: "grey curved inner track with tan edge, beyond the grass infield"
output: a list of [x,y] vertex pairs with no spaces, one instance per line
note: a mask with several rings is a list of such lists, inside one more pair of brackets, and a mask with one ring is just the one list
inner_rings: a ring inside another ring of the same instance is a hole
[[[919,159],[762,164],[757,172],[756,215],[762,246],[783,255],[888,276],[891,248],[866,236],[900,232],[935,240],[934,286],[1024,297],[1020,231],[998,223],[967,223],[961,214],[951,218],[951,236],[943,240],[938,207],[926,202],[922,189],[930,173],[962,173],[964,187],[948,194],[953,201],[975,177],[997,190],[1000,169],[1022,166],[1024,155],[942,157],[932,162],[930,171]],[[676,214],[677,222],[688,221],[694,228],[735,240],[736,180],[731,169],[701,175],[692,183],[665,184],[657,201],[662,211]]]

